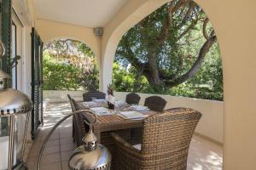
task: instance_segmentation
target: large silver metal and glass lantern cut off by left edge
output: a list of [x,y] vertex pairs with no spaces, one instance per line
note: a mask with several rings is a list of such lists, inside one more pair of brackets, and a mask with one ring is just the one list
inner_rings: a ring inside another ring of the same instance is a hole
[[22,170],[27,169],[23,155],[32,102],[26,94],[8,88],[9,78],[0,70],[0,170]]

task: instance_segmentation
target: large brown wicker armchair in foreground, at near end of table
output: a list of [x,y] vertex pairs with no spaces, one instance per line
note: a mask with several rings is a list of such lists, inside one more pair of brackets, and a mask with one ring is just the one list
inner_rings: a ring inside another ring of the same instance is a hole
[[113,169],[185,170],[189,144],[200,119],[200,112],[186,108],[148,116],[143,121],[141,150],[112,133]]

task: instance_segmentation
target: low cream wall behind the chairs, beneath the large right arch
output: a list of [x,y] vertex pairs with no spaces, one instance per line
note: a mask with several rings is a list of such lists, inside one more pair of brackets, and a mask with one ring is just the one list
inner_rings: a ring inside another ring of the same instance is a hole
[[[126,94],[129,93],[116,92],[114,96],[117,99],[125,101]],[[139,105],[144,105],[145,99],[154,94],[139,95],[141,96]],[[207,138],[213,139],[218,143],[224,143],[224,103],[222,101],[193,99],[171,95],[159,96],[163,99],[166,99],[167,101],[165,109],[171,109],[174,107],[187,107],[196,111],[200,111],[202,117],[195,129],[195,132],[200,133]]]

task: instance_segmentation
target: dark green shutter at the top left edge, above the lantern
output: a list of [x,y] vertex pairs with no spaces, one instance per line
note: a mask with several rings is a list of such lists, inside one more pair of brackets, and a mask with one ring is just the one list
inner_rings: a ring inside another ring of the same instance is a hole
[[11,11],[12,1],[2,0],[1,2],[1,36],[5,45],[5,57],[2,59],[2,70],[11,75]]

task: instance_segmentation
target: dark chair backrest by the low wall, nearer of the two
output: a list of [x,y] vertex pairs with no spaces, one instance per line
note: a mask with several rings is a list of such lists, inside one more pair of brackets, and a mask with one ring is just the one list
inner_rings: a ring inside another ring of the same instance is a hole
[[148,106],[148,108],[152,111],[164,111],[166,103],[166,99],[154,95],[146,98],[144,105]]

